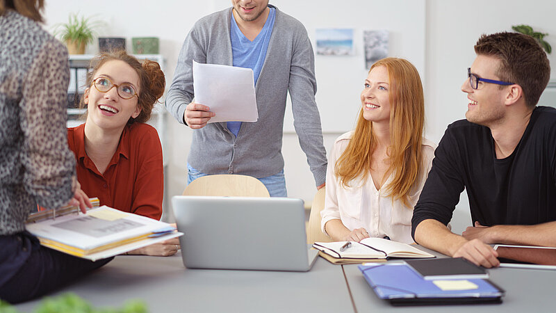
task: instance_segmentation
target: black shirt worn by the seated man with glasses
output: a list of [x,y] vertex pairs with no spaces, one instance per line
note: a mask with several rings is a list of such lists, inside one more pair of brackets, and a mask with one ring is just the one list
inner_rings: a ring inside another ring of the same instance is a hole
[[556,220],[556,109],[535,108],[516,149],[505,159],[496,159],[488,127],[467,120],[449,125],[415,206],[412,234],[429,218],[447,225],[464,188],[473,223]]

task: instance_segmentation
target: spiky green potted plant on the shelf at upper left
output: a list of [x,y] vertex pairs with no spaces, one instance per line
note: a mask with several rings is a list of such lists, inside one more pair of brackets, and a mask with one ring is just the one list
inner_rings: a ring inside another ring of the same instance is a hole
[[90,17],[79,17],[77,14],[70,14],[67,23],[56,25],[54,35],[65,42],[69,54],[84,54],[85,46],[92,42],[95,37],[94,31],[98,22],[94,22]]

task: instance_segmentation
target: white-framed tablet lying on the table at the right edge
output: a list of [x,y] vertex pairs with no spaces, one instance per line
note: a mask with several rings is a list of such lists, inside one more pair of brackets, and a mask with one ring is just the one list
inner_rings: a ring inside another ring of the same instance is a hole
[[556,269],[556,247],[496,245],[500,267]]

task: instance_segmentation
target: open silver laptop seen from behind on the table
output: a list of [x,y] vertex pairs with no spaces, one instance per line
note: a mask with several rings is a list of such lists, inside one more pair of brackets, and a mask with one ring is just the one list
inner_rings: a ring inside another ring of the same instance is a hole
[[183,265],[309,271],[303,200],[177,195],[172,198]]

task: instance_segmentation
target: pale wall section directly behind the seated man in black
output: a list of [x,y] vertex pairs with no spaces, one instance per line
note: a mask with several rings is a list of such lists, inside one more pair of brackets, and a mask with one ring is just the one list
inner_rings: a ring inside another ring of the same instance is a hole
[[[482,33],[512,31],[512,25],[528,24],[549,33],[545,39],[556,48],[555,12],[556,2],[550,0],[427,0],[427,136],[438,143],[448,124],[465,118],[467,99],[460,87],[475,59],[473,45]],[[550,76],[555,79],[556,52],[548,58],[553,65]],[[461,197],[455,217],[455,232],[471,225],[467,197]]]

